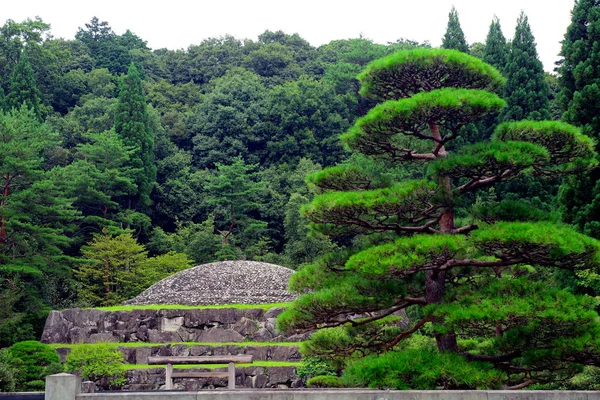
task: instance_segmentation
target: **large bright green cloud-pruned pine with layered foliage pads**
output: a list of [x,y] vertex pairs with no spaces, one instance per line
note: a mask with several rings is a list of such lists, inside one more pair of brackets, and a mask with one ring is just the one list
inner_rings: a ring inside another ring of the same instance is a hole
[[[593,301],[548,279],[554,269],[596,268],[600,243],[549,222],[457,214],[461,198],[495,182],[593,165],[592,141],[568,124],[521,121],[501,125],[490,142],[449,152],[461,127],[505,104],[492,93],[504,82],[498,71],[454,50],[399,52],[359,79],[361,93],[382,103],[343,142],[389,165],[427,163],[428,173],[398,182],[348,163],[309,177],[318,194],[303,211],[313,228],[358,245],[292,277],[290,287],[303,295],[279,317],[280,328],[326,328],[311,336],[305,355],[344,361],[388,352],[381,362],[397,371],[386,369],[389,379],[379,380],[376,356],[359,368],[360,384],[376,387],[409,382],[401,365],[428,371],[432,351],[452,365],[435,379],[446,388],[497,387],[500,379],[523,387],[600,364]],[[394,351],[407,347],[420,356]],[[473,379],[464,372],[471,363],[491,372]]]

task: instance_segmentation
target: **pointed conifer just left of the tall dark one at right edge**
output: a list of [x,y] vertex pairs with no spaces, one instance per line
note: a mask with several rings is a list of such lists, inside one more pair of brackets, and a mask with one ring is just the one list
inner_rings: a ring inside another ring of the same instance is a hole
[[527,16],[521,12],[517,20],[515,37],[510,44],[508,64],[503,71],[507,78],[502,121],[521,119],[543,120],[550,118],[548,84],[544,67],[538,59],[535,39]]

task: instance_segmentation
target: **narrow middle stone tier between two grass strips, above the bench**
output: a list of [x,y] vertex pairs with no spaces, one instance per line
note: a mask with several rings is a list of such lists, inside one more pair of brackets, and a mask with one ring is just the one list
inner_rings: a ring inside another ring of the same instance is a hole
[[[148,357],[155,356],[229,356],[251,355],[254,361],[300,361],[299,346],[277,345],[202,345],[202,344],[164,344],[161,346],[117,346],[123,353],[126,364],[148,364]],[[61,361],[71,352],[69,347],[56,347]]]

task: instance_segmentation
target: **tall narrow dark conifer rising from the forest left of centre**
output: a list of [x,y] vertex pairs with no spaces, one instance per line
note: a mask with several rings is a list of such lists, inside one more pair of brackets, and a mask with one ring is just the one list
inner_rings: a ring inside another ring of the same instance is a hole
[[138,170],[134,179],[138,187],[138,204],[132,206],[137,205],[146,210],[150,206],[150,193],[156,182],[154,135],[149,126],[142,80],[133,63],[121,80],[115,112],[115,131],[121,136],[123,143],[134,150],[130,166]]

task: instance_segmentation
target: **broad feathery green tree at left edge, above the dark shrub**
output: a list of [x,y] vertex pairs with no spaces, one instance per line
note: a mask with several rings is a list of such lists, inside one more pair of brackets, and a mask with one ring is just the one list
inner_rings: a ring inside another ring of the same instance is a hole
[[79,214],[44,170],[57,144],[58,135],[25,105],[0,114],[0,292],[10,307],[0,318],[3,345],[41,332],[49,307],[67,305],[72,295],[76,260],[64,250]]

